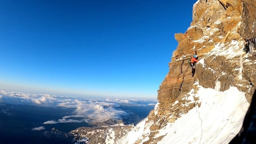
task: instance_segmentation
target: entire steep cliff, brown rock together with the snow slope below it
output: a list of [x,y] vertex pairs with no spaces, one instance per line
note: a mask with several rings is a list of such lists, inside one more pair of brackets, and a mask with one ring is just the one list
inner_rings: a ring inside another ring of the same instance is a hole
[[[185,115],[188,116],[192,111],[211,112],[211,108],[218,108],[220,113],[229,109],[229,113],[226,114],[229,117],[225,119],[226,124],[213,131],[217,135],[222,134],[221,137],[213,134],[211,138],[204,134],[211,129],[211,125],[217,126],[222,123],[217,119],[208,123],[206,118],[214,117],[214,115],[201,113],[201,117],[199,114],[201,121],[195,122],[201,123],[201,138],[193,137],[194,131],[186,132],[191,141],[185,142],[228,143],[242,126],[241,120],[245,116],[255,91],[254,86],[256,86],[256,57],[243,51],[246,40],[256,37],[255,7],[255,0],[198,0],[193,5],[191,26],[184,34],[175,34],[175,39],[179,44],[169,63],[170,71],[158,90],[158,104],[143,121],[143,132],[133,142],[128,140],[129,134],[118,142],[144,144],[167,142],[167,136],[173,136],[176,132],[173,135],[169,134],[171,130],[166,131],[168,132],[166,134],[160,134],[160,132],[171,129],[171,124],[175,124]],[[195,52],[199,57],[199,62],[196,64],[195,76],[192,77],[191,67],[187,61]],[[202,90],[206,91],[202,93]],[[212,95],[212,93],[215,94]],[[207,103],[204,101],[207,96],[215,99],[222,96],[221,101],[229,101],[232,104],[227,108],[225,105],[229,102],[220,106],[214,104],[220,101],[213,100]],[[244,101],[241,100],[243,98]],[[206,105],[212,107],[206,107]],[[240,118],[236,116],[237,120],[232,119],[232,115],[236,115],[239,110],[241,113],[237,115]],[[216,112],[214,114],[218,117]],[[187,118],[193,120],[192,117]],[[193,124],[192,121],[185,121],[183,125],[187,126],[187,123]],[[207,124],[209,126],[206,126]],[[220,132],[224,127],[232,126],[234,127],[230,132],[232,134]],[[135,127],[135,131],[136,129],[138,130],[139,127]],[[180,126],[180,129],[183,127]],[[189,139],[188,137],[186,139]]]

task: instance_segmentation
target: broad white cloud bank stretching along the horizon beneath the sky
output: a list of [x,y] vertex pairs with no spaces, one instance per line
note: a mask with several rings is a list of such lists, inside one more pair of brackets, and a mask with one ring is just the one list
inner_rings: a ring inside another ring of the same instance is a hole
[[[40,107],[73,108],[71,115],[65,115],[58,120],[49,120],[43,124],[57,123],[89,123],[90,121],[105,121],[110,118],[121,119],[129,114],[120,109],[120,105],[146,106],[156,104],[157,101],[138,101],[138,99],[73,99],[67,96],[51,96],[48,94],[31,95],[18,92],[0,91],[0,102],[5,104],[35,105]],[[44,127],[35,127],[33,130],[41,130]]]

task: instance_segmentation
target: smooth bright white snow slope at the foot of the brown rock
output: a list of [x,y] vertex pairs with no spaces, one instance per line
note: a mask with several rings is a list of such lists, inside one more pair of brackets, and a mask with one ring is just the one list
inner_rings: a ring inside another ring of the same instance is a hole
[[[199,86],[196,93],[192,91],[190,96],[198,97],[199,105],[161,129],[156,137],[164,137],[158,144],[229,143],[241,129],[249,103],[245,99],[245,93],[236,87],[230,86],[224,92],[220,92],[219,88],[205,89]],[[122,142],[134,143],[141,137],[143,129],[147,127],[143,125],[145,121],[146,119],[141,121]],[[146,140],[147,137],[141,143]]]

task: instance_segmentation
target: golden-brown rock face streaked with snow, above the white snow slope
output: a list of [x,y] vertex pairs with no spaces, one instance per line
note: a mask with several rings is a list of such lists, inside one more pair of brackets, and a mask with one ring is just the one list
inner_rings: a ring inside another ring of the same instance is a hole
[[[220,82],[220,91],[235,86],[251,102],[256,86],[256,57],[242,49],[246,39],[256,37],[255,7],[255,0],[199,0],[193,5],[191,26],[184,34],[175,34],[179,44],[158,90],[158,112],[148,115],[150,133],[144,137],[149,139],[143,143],[157,143],[161,137],[156,134],[161,128],[199,105],[196,98],[192,103],[186,99],[191,90],[196,92],[195,81],[213,89]],[[196,64],[192,77],[187,61],[195,52],[202,61]]]

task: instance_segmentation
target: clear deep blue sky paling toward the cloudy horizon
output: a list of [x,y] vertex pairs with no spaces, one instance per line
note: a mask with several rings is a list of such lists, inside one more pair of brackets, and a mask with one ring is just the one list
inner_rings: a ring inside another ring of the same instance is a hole
[[157,98],[194,1],[0,1],[0,90]]

